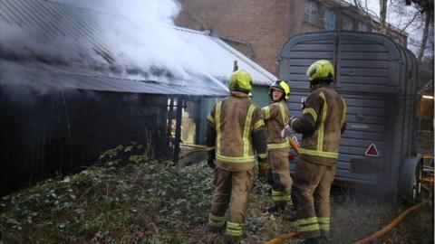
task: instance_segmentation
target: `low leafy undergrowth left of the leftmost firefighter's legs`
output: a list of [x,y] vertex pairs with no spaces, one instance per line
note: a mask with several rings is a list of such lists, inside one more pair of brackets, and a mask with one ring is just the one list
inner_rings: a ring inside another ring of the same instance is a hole
[[[205,223],[212,176],[204,164],[147,161],[140,145],[105,152],[108,167],[47,180],[0,201],[5,243],[177,243],[183,222]],[[110,165],[125,164],[122,167]]]

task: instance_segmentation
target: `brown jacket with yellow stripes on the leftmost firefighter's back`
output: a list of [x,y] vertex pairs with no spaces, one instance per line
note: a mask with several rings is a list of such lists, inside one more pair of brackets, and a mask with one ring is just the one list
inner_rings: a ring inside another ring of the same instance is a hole
[[266,158],[265,122],[261,109],[246,93],[230,94],[218,101],[208,115],[206,145],[214,147],[219,168],[246,171],[254,167],[256,155]]

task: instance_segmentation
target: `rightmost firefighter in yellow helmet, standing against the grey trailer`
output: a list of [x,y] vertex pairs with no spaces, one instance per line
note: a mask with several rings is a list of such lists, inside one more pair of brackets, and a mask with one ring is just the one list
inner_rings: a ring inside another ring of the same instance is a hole
[[305,243],[323,243],[330,231],[329,194],[346,125],[346,104],[330,86],[330,61],[315,61],[306,76],[311,92],[304,101],[302,117],[288,121],[289,127],[302,133],[294,177],[297,223]]

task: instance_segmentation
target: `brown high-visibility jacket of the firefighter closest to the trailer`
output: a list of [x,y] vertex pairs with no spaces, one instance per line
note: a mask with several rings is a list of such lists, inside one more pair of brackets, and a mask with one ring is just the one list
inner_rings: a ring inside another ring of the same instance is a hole
[[302,117],[290,125],[303,134],[299,157],[316,164],[336,164],[345,122],[342,96],[327,84],[314,87],[304,101]]

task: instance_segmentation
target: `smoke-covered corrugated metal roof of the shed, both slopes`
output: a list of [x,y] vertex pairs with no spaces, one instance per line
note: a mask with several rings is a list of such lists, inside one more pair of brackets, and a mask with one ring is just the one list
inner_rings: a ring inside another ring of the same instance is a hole
[[[276,79],[225,42],[205,33],[70,5],[2,0],[0,24],[0,57],[13,57],[15,62],[2,61],[2,82],[23,80],[23,72],[36,77],[41,77],[38,72],[46,72],[51,75],[44,75],[43,82],[65,88],[222,96],[227,90],[218,80],[228,79],[234,61],[253,76],[256,84],[268,85]],[[164,29],[183,45],[164,47],[173,55],[163,59],[151,52],[165,42],[147,36],[149,28]],[[182,52],[188,53],[182,56]],[[200,65],[197,63],[200,67],[183,70],[189,61],[178,59],[193,52],[204,58]],[[142,65],[146,61],[152,65]]]

